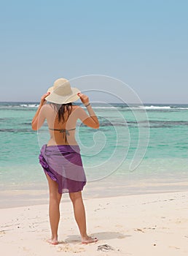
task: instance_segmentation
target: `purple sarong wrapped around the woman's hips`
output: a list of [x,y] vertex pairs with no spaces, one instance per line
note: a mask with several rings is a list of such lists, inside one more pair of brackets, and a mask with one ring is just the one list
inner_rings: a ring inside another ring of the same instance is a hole
[[86,184],[79,146],[58,145],[41,148],[39,162],[53,181],[58,183],[58,192],[78,192]]

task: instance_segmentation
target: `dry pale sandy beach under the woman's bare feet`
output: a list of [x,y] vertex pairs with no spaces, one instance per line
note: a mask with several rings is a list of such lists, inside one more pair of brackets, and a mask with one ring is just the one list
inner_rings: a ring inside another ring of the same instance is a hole
[[0,248],[6,255],[188,255],[188,192],[85,200],[87,230],[81,244],[71,202],[63,202],[60,244],[50,238],[48,206],[0,209]]

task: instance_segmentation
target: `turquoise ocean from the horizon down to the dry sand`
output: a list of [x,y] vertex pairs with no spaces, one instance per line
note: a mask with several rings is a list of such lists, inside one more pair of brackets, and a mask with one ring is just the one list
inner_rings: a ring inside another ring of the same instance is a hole
[[[39,151],[47,124],[31,129],[39,102],[0,102],[0,207],[46,203]],[[188,105],[93,103],[99,129],[78,121],[86,198],[188,188]]]

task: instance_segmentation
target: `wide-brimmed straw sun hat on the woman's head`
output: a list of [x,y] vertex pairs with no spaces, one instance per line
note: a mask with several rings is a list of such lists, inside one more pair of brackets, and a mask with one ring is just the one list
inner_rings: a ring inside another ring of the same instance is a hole
[[53,86],[47,90],[47,92],[49,91],[50,95],[45,98],[48,102],[66,104],[79,99],[77,94],[80,90],[71,87],[71,84],[65,78],[55,80]]

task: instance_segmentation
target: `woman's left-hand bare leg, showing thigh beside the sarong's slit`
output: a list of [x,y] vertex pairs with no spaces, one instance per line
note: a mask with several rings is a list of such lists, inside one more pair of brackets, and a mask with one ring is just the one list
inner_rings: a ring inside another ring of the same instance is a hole
[[52,238],[49,240],[50,244],[58,244],[58,225],[60,220],[60,199],[61,194],[58,192],[58,183],[53,181],[50,176],[47,175],[47,181],[50,191],[50,204],[49,204],[49,216],[50,227],[52,231]]

